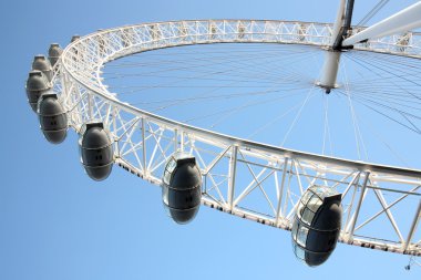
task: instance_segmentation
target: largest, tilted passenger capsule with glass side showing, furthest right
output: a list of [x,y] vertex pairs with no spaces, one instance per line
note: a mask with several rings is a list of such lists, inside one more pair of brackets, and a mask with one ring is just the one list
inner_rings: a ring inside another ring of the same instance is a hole
[[324,263],[333,251],[341,227],[341,194],[312,186],[302,195],[292,224],[296,257],[310,267]]

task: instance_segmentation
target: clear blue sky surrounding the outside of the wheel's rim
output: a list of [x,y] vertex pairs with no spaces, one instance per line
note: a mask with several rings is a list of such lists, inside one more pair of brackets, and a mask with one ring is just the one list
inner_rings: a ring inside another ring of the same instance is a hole
[[[331,22],[337,0],[2,1],[0,279],[420,279],[408,258],[339,245],[317,269],[297,262],[290,234],[203,207],[176,226],[161,191],[120,168],[85,176],[76,135],[53,146],[24,94],[34,54],[71,35],[148,21],[209,18]],[[357,0],[360,19],[377,1]],[[362,3],[363,2],[363,3]],[[377,19],[415,1],[393,0]]]

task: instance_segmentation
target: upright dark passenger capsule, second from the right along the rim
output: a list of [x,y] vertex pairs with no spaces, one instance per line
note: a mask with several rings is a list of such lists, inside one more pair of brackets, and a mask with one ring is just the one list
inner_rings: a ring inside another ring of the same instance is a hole
[[175,153],[166,163],[162,199],[168,216],[177,224],[194,219],[201,206],[202,175],[196,158]]

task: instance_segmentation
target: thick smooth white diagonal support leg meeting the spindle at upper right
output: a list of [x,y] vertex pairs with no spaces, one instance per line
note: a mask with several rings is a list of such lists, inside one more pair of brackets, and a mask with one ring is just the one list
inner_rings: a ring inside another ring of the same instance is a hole
[[350,38],[343,40],[342,45],[353,45],[358,42],[408,32],[421,27],[421,2],[373,24]]

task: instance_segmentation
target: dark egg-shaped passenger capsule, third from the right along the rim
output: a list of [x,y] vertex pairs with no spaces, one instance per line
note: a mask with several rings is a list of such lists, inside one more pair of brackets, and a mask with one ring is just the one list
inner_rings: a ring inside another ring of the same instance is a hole
[[88,123],[79,141],[81,160],[86,174],[94,180],[109,177],[113,168],[113,142],[103,123]]

